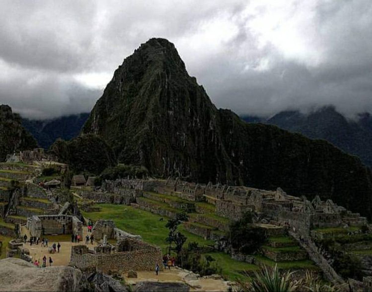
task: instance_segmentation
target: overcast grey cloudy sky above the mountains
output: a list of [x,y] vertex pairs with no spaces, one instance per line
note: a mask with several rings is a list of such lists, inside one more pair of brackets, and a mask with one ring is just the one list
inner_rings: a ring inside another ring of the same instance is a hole
[[372,112],[371,0],[0,5],[0,103],[22,116],[90,111],[123,59],[152,37],[174,43],[217,107]]

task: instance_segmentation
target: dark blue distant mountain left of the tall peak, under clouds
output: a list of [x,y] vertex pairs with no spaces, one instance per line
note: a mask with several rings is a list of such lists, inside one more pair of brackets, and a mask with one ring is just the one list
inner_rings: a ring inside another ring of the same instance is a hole
[[89,113],[81,113],[51,120],[22,119],[22,124],[40,147],[48,149],[58,138],[70,140],[78,136],[88,117]]

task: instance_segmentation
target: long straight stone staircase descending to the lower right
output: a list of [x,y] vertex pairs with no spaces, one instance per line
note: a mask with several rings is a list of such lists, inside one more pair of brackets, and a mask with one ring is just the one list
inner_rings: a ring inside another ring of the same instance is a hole
[[331,267],[331,265],[324,259],[324,257],[318,252],[317,246],[310,240],[300,240],[300,237],[297,233],[293,231],[288,231],[289,235],[292,236],[295,240],[298,241],[299,245],[304,248],[310,259],[320,267],[323,271],[325,278],[330,281],[335,286],[344,285],[345,281],[342,279],[336,271]]

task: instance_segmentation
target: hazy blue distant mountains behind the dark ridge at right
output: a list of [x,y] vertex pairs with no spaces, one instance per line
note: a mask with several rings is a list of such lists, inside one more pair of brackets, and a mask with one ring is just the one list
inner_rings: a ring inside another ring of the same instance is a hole
[[326,106],[308,114],[291,110],[281,111],[267,120],[251,116],[243,116],[242,119],[247,123],[272,124],[311,139],[327,140],[372,167],[372,117],[369,113],[359,114],[356,120],[348,120],[333,106]]

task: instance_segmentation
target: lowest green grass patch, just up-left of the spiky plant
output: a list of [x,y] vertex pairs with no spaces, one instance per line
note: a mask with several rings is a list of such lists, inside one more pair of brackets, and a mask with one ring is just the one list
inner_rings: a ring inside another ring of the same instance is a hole
[[232,281],[236,281],[238,279],[243,280],[244,276],[242,275],[243,271],[256,271],[259,269],[257,265],[239,262],[237,260],[231,259],[228,254],[222,252],[215,252],[215,253],[207,253],[211,257],[213,257],[219,267],[222,269],[222,276],[225,279],[230,279]]

